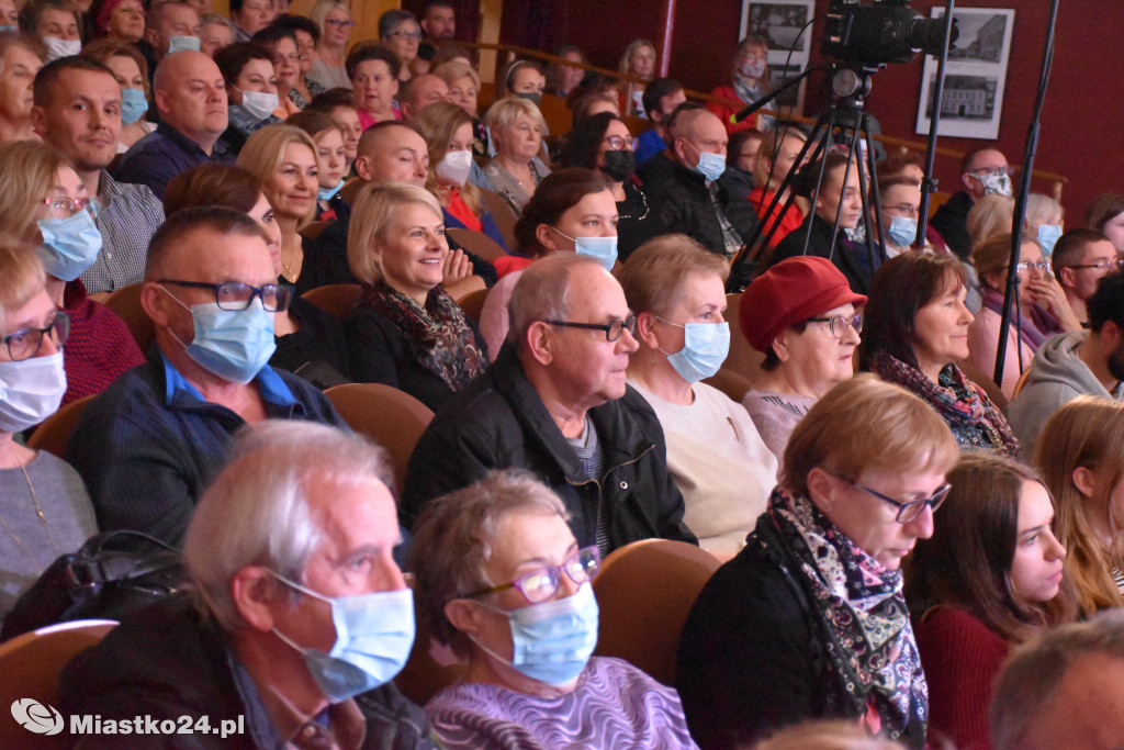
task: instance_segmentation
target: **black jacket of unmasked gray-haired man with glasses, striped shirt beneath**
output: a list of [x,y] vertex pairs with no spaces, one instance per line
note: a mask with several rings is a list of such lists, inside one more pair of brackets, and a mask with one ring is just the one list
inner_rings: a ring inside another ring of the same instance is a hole
[[410,455],[402,523],[414,526],[425,504],[481,479],[491,469],[526,469],[565,504],[580,546],[597,543],[598,508],[607,514],[609,549],[662,536],[697,544],[683,523],[683,497],[668,472],[663,428],[652,407],[628,388],[589,410],[605,452],[605,478],[589,479],[505,345],[491,368],[450,399]]

